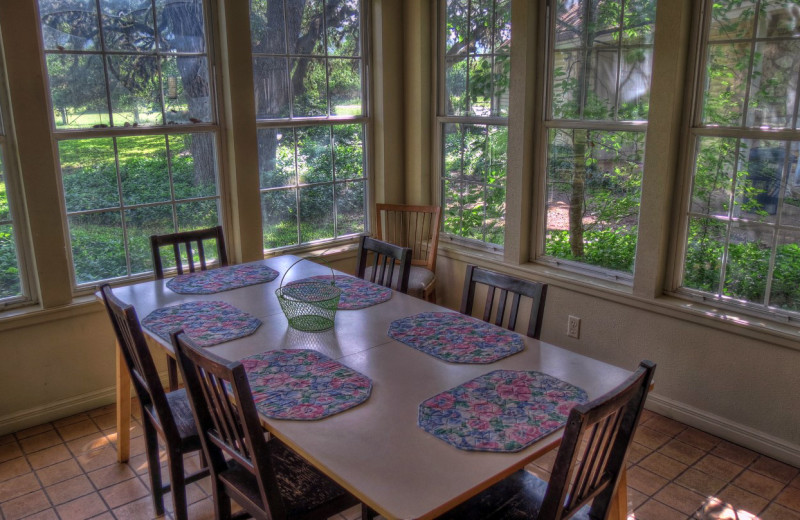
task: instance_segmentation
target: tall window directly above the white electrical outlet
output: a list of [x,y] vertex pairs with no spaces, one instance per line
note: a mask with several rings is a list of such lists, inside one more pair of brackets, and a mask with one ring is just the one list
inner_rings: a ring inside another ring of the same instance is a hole
[[636,252],[656,2],[555,5],[545,261],[624,276],[633,273]]

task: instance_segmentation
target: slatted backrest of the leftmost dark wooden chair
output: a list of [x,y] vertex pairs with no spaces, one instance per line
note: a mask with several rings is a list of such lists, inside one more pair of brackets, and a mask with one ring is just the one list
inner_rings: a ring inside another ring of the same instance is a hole
[[109,284],[100,287],[117,343],[128,366],[142,414],[155,419],[164,435],[179,439],[178,428],[170,411],[164,386],[156,370],[150,348],[147,346],[136,309],[114,296]]

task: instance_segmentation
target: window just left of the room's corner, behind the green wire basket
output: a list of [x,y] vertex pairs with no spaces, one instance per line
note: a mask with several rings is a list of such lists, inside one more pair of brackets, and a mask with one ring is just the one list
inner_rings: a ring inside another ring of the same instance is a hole
[[360,0],[252,0],[264,248],[366,229]]

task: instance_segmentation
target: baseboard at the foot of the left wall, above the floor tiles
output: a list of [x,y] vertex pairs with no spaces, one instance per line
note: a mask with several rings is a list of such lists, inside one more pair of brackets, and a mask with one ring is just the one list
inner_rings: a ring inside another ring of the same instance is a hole
[[0,417],[0,435],[17,432],[50,421],[68,417],[111,404],[116,399],[116,387],[103,388],[86,394],[35,406]]

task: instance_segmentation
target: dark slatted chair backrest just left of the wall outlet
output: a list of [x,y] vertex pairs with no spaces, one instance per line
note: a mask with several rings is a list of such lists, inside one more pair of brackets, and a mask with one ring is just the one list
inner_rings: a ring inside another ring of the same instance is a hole
[[[544,301],[547,297],[547,284],[520,280],[513,276],[483,269],[474,265],[467,266],[467,273],[464,276],[464,291],[461,295],[461,313],[472,314],[472,306],[475,302],[476,284],[486,285],[486,303],[483,307],[483,321],[494,322],[495,325],[503,326],[507,315],[507,328],[514,330],[517,326],[517,314],[519,313],[519,303],[521,296],[531,299],[531,315],[528,320],[527,335],[539,339],[542,333],[542,317],[544,316]],[[498,294],[499,293],[499,294]],[[511,300],[511,306],[507,305]],[[497,308],[492,320],[492,311],[495,309],[494,302],[497,300]]]

